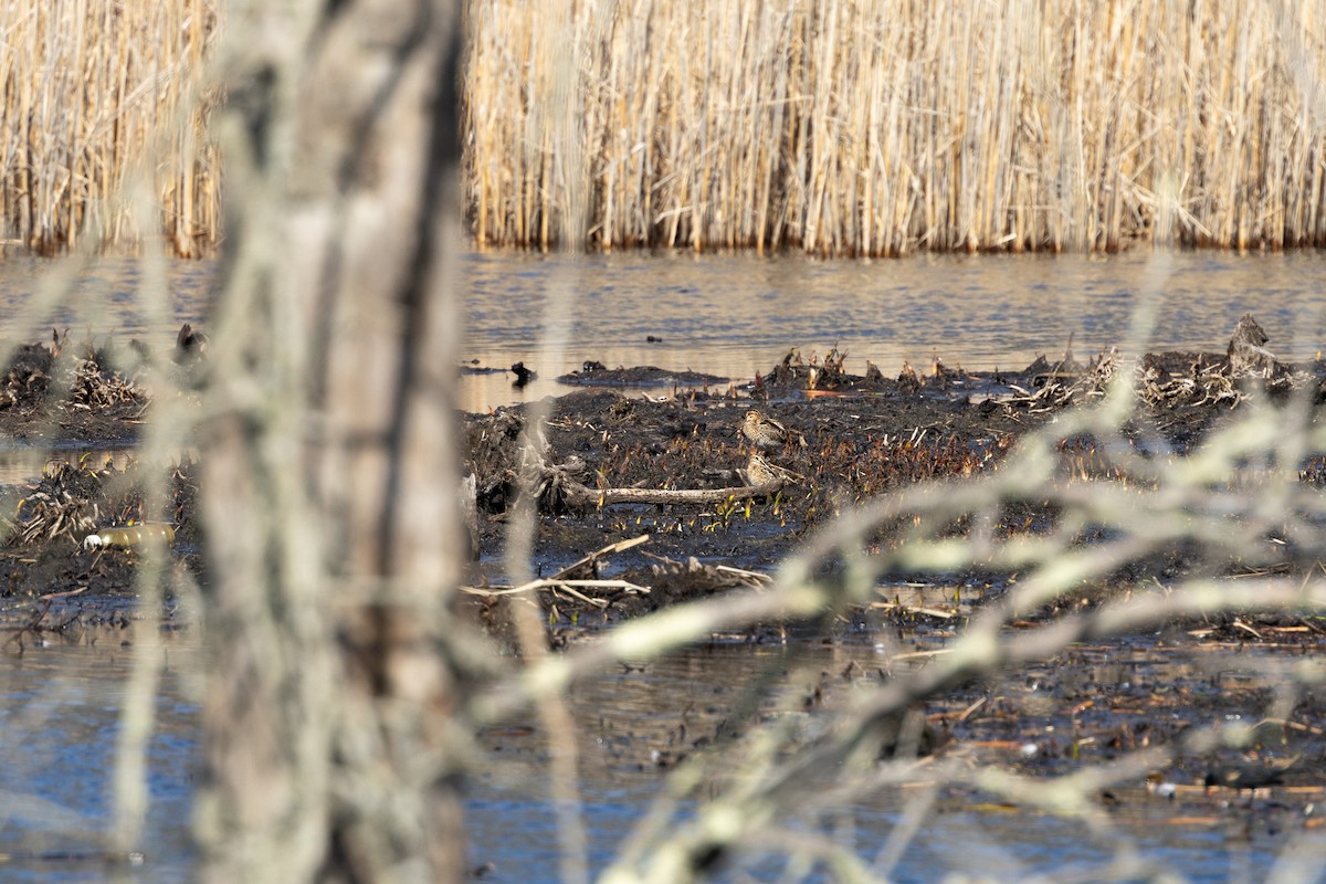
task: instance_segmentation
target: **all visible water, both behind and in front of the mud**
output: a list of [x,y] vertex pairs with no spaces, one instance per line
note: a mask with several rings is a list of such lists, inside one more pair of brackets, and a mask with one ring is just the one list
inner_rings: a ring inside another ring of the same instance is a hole
[[[568,258],[472,254],[465,260],[463,357],[481,364],[522,360],[541,372],[524,391],[501,374],[467,376],[461,404],[483,411],[522,398],[562,392],[557,374],[586,359],[609,366],[656,364],[749,379],[790,346],[808,357],[830,347],[869,358],[886,372],[923,368],[939,357],[968,368],[1020,367],[1058,355],[1069,337],[1079,357],[1111,345],[1126,351],[1223,350],[1244,313],[1253,313],[1281,358],[1314,357],[1326,338],[1326,301],[1317,253],[1229,256],[1134,253],[1114,257],[918,257],[825,262],[804,257],[611,254]],[[50,326],[143,337],[168,346],[180,322],[207,325],[213,268],[164,268],[168,297],[147,310],[139,289],[150,278],[134,261],[98,260],[70,270],[64,288],[42,296],[41,261],[0,266],[0,338],[45,339]],[[76,272],[74,272],[76,270]],[[1135,325],[1135,319],[1142,318]],[[648,343],[652,335],[659,342]],[[439,359],[450,359],[439,354]],[[17,455],[5,481],[36,470]],[[8,463],[8,461],[7,461]],[[15,602],[19,610],[21,602]],[[125,644],[125,641],[129,644]],[[158,696],[160,732],[151,747],[154,804],[147,863],[114,869],[25,860],[0,865],[3,880],[188,880],[195,861],[188,818],[196,782],[196,630],[172,635]],[[7,645],[0,660],[0,854],[38,856],[93,851],[110,819],[110,771],[131,636],[97,634],[73,641]],[[727,714],[745,685],[769,667],[838,672],[845,655],[870,665],[869,641],[845,651],[813,641],[790,648],[716,645],[675,655],[644,671],[590,679],[572,697],[582,749],[581,802],[589,860],[601,869],[659,794],[668,753]],[[778,698],[769,698],[777,704]],[[550,880],[561,855],[549,799],[548,751],[537,726],[525,737],[487,736],[471,793],[473,861],[495,864],[489,880]],[[659,755],[655,755],[659,753]],[[850,808],[850,838],[863,856],[886,846],[906,806],[882,794]],[[682,807],[679,812],[687,812]],[[831,815],[788,820],[823,826]],[[518,834],[518,836],[513,836]],[[1189,880],[1231,871],[1260,877],[1282,842],[1229,843],[1209,827],[1132,826],[1131,844],[1172,863]],[[955,851],[953,846],[961,846]],[[1116,846],[1085,838],[1081,826],[1032,814],[948,808],[927,819],[892,867],[896,880],[932,880],[953,871],[1022,880],[1071,868],[1091,877]],[[748,868],[773,880],[777,863]]]

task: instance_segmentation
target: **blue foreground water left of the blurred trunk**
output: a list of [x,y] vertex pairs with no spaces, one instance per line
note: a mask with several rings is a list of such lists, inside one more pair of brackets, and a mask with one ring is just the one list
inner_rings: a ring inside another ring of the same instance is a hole
[[[15,612],[17,614],[17,612]],[[11,618],[7,618],[11,619]],[[142,623],[7,640],[0,657],[0,880],[182,881],[199,761],[195,630],[163,634],[146,861],[106,868],[119,709]],[[81,857],[81,859],[80,859]]]

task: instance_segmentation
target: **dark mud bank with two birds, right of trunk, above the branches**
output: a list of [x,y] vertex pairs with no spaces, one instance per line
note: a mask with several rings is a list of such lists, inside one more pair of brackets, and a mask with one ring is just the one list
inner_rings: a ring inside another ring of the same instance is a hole
[[[1240,323],[1238,335],[1266,350],[1252,319]],[[1238,349],[1235,343],[1232,350]],[[1313,387],[1315,402],[1322,400],[1317,390],[1323,375],[1315,363],[1250,359],[1242,370],[1236,363],[1228,353],[1146,354],[1130,363],[1115,350],[1077,358],[1070,349],[1021,371],[955,370],[936,359],[926,372],[904,367],[894,379],[869,362],[865,374],[854,375],[838,351],[817,358],[793,349],[761,378],[721,394],[687,390],[650,398],[582,391],[562,396],[550,403],[548,421],[524,448],[517,440],[526,424],[525,408],[469,416],[467,469],[479,489],[479,555],[500,553],[512,501],[525,481],[538,501],[536,557],[550,569],[587,550],[648,534],[647,547],[614,561],[619,569],[614,574],[658,583],[660,595],[633,596],[613,607],[634,611],[667,603],[660,599],[705,595],[735,578],[690,566],[659,571],[659,563],[766,571],[810,530],[850,508],[918,482],[1001,469],[1018,436],[1069,408],[1094,408],[1124,382],[1132,384],[1135,398],[1119,432],[1107,440],[1074,433],[1059,440],[1052,456],[1065,481],[1144,486],[1163,469],[1159,461],[1192,451],[1252,398],[1274,407],[1289,402],[1289,391],[1306,386]],[[789,441],[756,449],[749,431],[743,432],[752,421],[786,427]],[[760,485],[751,481],[756,452],[768,461],[765,474],[772,470],[784,477],[768,493],[751,490]],[[1144,469],[1138,472],[1139,467]],[[1297,468],[1309,480],[1326,472],[1319,464],[1315,472],[1311,464]],[[578,494],[564,493],[573,485]],[[682,492],[693,496],[676,497]],[[997,537],[1053,530],[1057,518],[1045,502],[1013,501],[993,527]],[[969,527],[959,521],[948,530],[961,535]],[[907,531],[904,520],[882,524],[863,541],[867,554],[906,542]],[[1091,539],[1085,531],[1082,542]],[[1134,563],[1120,579],[1170,578],[1188,573],[1199,559],[1176,547]],[[835,565],[827,567],[831,571]],[[951,577],[1002,579],[997,574]]]

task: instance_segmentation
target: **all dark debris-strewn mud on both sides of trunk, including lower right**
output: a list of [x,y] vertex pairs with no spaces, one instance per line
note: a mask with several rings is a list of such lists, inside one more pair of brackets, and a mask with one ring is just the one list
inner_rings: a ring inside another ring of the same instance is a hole
[[[564,645],[679,602],[758,590],[780,562],[842,513],[919,482],[941,490],[945,482],[994,474],[1021,437],[1073,410],[1099,407],[1116,378],[1136,392],[1120,436],[1130,452],[1156,461],[1181,461],[1249,407],[1307,402],[1319,410],[1326,368],[1281,364],[1265,349],[1264,335],[1245,331],[1246,342],[1240,345],[1236,335],[1224,354],[1164,353],[1128,362],[1113,351],[1081,359],[1065,353],[1016,372],[959,371],[936,362],[886,376],[866,360],[790,350],[748,383],[705,378],[697,387],[670,386],[643,396],[618,390],[639,383],[639,370],[587,368],[582,374],[602,383],[581,378],[556,398],[460,415],[464,468],[475,492],[473,562],[463,606],[497,645],[505,644],[505,607],[488,592],[505,579],[501,557],[512,521],[528,517],[521,514],[522,488],[529,492],[524,500],[537,501],[537,577],[554,583],[529,595],[541,606],[553,643]],[[192,395],[191,362],[188,353],[172,355],[179,371],[171,395]],[[151,419],[152,395],[133,372],[113,364],[123,364],[122,357],[60,341],[20,350],[4,383],[0,431],[34,445],[131,443]],[[533,416],[538,429],[526,437]],[[768,431],[772,436],[765,437],[765,424],[786,432]],[[1089,435],[1062,439],[1054,459],[1065,480],[1120,481],[1116,453]],[[1321,457],[1298,465],[1302,482],[1317,485],[1323,474]],[[166,489],[167,500],[155,513],[146,498],[149,477]],[[115,467],[76,457],[3,489],[0,513],[13,514],[0,547],[0,610],[11,652],[23,653],[30,643],[80,641],[89,627],[126,628],[137,616],[135,574],[143,550],[84,543],[86,534],[105,526],[154,517],[168,522],[174,545],[162,577],[167,612],[183,592],[206,592],[196,477],[190,460],[149,469],[133,459]],[[652,502],[659,494],[688,493],[700,497]],[[1054,520],[1053,510],[1028,502],[1004,514],[1009,531],[1050,530]],[[952,530],[960,534],[969,526],[956,524]],[[871,542],[904,542],[906,535],[906,524],[891,524]],[[1314,566],[1292,546],[1277,547],[1273,557],[1219,563],[1217,571],[1307,573]],[[846,566],[825,563],[821,577],[833,579],[838,567]],[[1130,562],[1109,579],[1029,612],[1013,628],[1034,628],[1107,602],[1120,587],[1159,586],[1196,567],[1209,569],[1211,562],[1187,549]],[[757,623],[713,634],[709,641],[842,647],[853,661],[808,688],[804,705],[813,713],[846,701],[855,687],[883,685],[896,671],[924,665],[1012,579],[1014,574],[972,569],[886,574],[869,604],[825,611],[810,623]],[[170,616],[166,628],[172,628]],[[920,710],[922,749],[969,753],[973,763],[1044,774],[1090,757],[1181,744],[1162,782],[1237,779],[1245,775],[1238,765],[1249,763],[1246,753],[1197,751],[1184,742],[1185,734],[1220,717],[1258,721],[1274,685],[1254,675],[1231,691],[1209,671],[1228,669],[1223,655],[1248,645],[1268,655],[1301,655],[1315,649],[1323,635],[1311,612],[1277,611],[1175,619],[1147,635],[1078,644],[1053,660],[931,697]],[[1305,734],[1318,733],[1311,721],[1326,720],[1318,705],[1311,693],[1303,694],[1282,717],[1305,730],[1290,733],[1285,725],[1276,733],[1290,738],[1273,747],[1269,737],[1256,742],[1262,749],[1253,759],[1272,765],[1265,770],[1274,770],[1277,779],[1274,765],[1301,751]],[[684,744],[642,730],[633,744],[640,766],[671,766],[717,736],[705,734],[703,720],[688,721],[693,736]],[[711,724],[731,728],[721,716]],[[1326,799],[1310,770],[1282,778],[1309,790],[1296,794],[1286,811],[1296,819]],[[1216,785],[1229,786],[1235,798],[1241,791],[1237,782]],[[1179,795],[1175,812],[1213,814],[1216,824],[1240,812],[1237,802],[1209,803],[1205,791],[1170,794]],[[965,793],[955,798],[972,799]],[[1152,798],[1118,791],[1110,801],[1136,804]]]

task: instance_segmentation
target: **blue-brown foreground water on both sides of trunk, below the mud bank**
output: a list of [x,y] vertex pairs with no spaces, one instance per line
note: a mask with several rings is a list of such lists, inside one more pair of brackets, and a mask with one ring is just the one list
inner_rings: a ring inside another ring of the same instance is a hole
[[[5,645],[0,669],[0,745],[5,747],[5,763],[0,766],[0,857],[29,859],[0,859],[0,880],[113,879],[137,884],[194,876],[196,856],[188,824],[200,740],[200,639],[195,628],[163,635],[166,668],[156,702],[158,734],[149,751],[152,807],[146,861],[109,871],[69,859],[105,848],[118,712],[131,655],[141,644],[138,631],[143,628],[101,627],[68,641],[28,636],[21,651],[15,643]],[[770,720],[810,740],[829,721],[826,709],[869,691],[882,671],[896,673],[926,665],[916,651],[930,647],[932,643],[924,639],[900,639],[895,630],[863,641],[715,643],[582,680],[572,691],[570,710],[577,726],[573,738],[579,753],[579,801],[591,869],[599,872],[619,856],[682,754],[695,751],[697,740],[740,738]],[[1144,675],[1180,684],[1201,672],[1172,652],[1140,647],[1102,645],[1083,651],[1083,657],[1099,659],[1106,667],[1124,663],[1134,681]],[[1237,668],[1237,660],[1225,652],[1207,660],[1205,668]],[[1102,683],[1115,677],[1078,664],[1073,671]],[[1004,691],[1014,701],[1020,694],[1037,693],[1021,677],[1013,677]],[[817,700],[808,705],[805,700],[812,694]],[[554,880],[562,856],[557,824],[568,810],[549,799],[549,746],[541,728],[534,720],[516,721],[480,733],[479,742],[483,751],[467,803],[472,865],[492,863],[484,880]],[[968,750],[959,746],[956,751]],[[971,765],[980,762],[967,763],[969,767],[963,770],[969,773],[975,770]],[[721,778],[723,771],[711,771],[709,777],[715,775]],[[924,785],[882,787],[850,803],[812,791],[808,801],[814,806],[776,822],[792,834],[831,838],[869,864],[882,855],[911,802],[924,790]],[[1248,880],[1258,880],[1285,850],[1284,836],[1268,835],[1266,820],[1248,811],[1227,815],[1223,823],[1177,822],[1177,816],[1192,815],[1193,807],[1208,816],[1219,812],[1216,802],[1200,793],[1191,791],[1179,803],[1150,798],[1140,785],[1123,785],[1115,793],[1115,836],[1110,839],[1091,836],[1082,823],[1030,810],[973,807],[963,799],[963,791],[940,795],[924,814],[919,831],[898,846],[896,864],[887,869],[890,880],[930,881],[949,873],[1006,881],[1049,875],[1058,880],[1067,869],[1087,880],[1107,880],[1103,872],[1120,856],[1140,856],[1181,869],[1188,880],[1221,880],[1232,865],[1246,868]],[[701,794],[708,791],[701,789]],[[693,803],[683,802],[676,815],[684,819],[693,810]],[[1294,831],[1301,826],[1294,812],[1276,824]],[[1250,831],[1229,840],[1225,827],[1235,824],[1249,824]],[[741,860],[741,869],[749,873],[747,880],[778,880],[782,864],[772,859],[777,848],[752,848],[753,857]],[[45,859],[30,859],[40,855]],[[740,875],[723,873],[719,880],[740,880]]]

